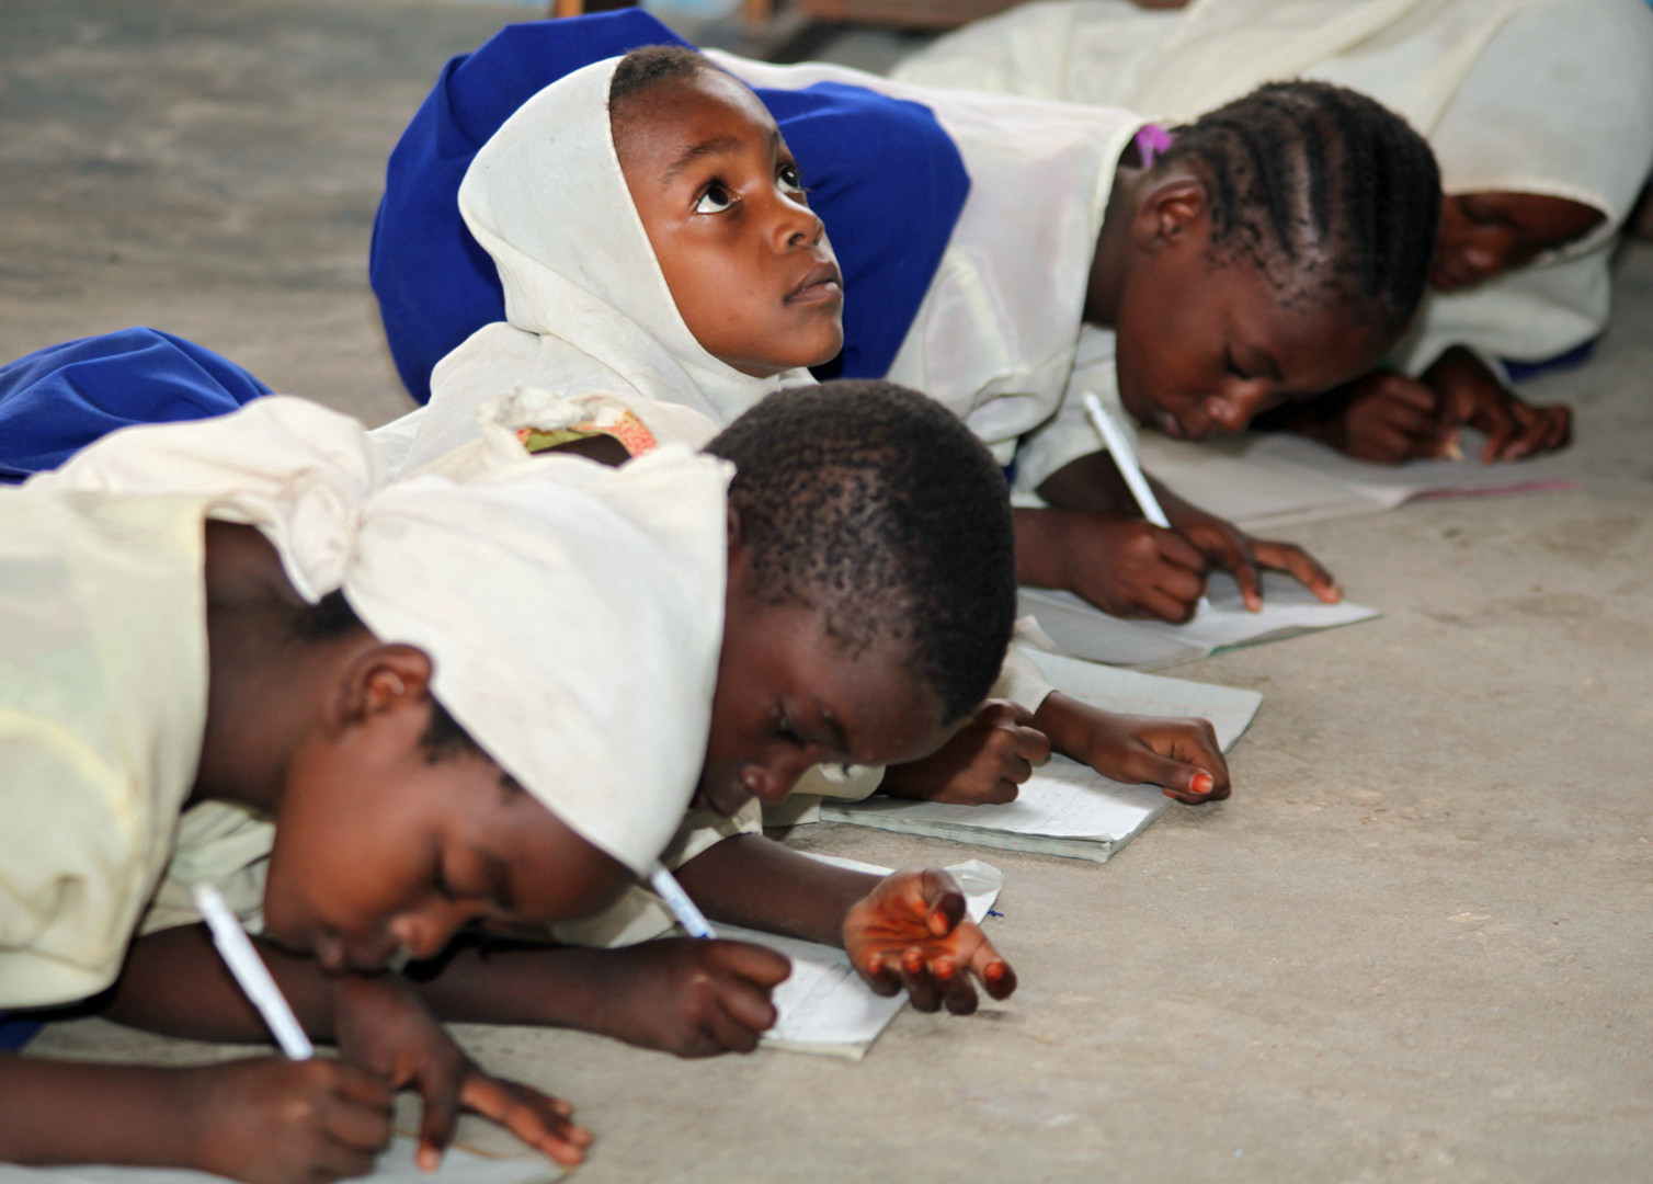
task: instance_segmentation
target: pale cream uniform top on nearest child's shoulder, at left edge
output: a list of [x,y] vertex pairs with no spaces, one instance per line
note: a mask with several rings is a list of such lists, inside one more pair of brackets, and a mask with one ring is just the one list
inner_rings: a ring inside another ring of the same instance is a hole
[[0,491],[0,1009],[114,982],[207,719],[200,499]]

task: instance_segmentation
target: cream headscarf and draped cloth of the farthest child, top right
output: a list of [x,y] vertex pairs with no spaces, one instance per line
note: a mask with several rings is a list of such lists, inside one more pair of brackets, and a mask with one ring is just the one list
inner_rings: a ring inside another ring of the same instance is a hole
[[1397,360],[1450,344],[1542,359],[1600,332],[1610,243],[1653,162],[1653,12],[1643,0],[1121,0],[1020,5],[894,76],[1190,119],[1276,78],[1351,86],[1435,149],[1446,193],[1593,205],[1605,223],[1473,291],[1431,294]]

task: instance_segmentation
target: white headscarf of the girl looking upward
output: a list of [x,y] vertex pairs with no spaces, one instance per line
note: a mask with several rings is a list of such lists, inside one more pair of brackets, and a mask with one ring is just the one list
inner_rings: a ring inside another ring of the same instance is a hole
[[689,332],[631,205],[608,124],[618,58],[560,78],[483,146],[460,212],[494,258],[506,321],[484,326],[431,374],[408,466],[476,435],[476,407],[517,385],[640,394],[729,423],[807,370],[754,379]]

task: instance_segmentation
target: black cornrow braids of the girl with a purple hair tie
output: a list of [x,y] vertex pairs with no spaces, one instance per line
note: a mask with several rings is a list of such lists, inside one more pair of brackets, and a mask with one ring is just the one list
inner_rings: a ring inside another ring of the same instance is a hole
[[1398,334],[1435,255],[1441,184],[1407,121],[1329,83],[1270,83],[1174,129],[1160,157],[1207,177],[1212,248],[1289,308],[1327,294]]

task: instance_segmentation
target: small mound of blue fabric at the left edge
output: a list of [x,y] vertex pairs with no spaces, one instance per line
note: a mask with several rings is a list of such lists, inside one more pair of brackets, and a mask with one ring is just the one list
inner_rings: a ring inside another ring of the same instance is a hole
[[155,329],[48,346],[0,367],[0,480],[56,468],[131,423],[203,420],[268,394],[235,362]]

